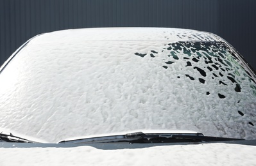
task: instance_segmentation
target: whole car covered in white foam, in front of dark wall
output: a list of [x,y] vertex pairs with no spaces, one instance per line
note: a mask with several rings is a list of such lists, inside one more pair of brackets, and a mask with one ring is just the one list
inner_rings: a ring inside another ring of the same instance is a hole
[[173,155],[172,148],[198,155],[240,148],[232,158],[241,159],[248,147],[255,155],[256,74],[216,34],[157,27],[55,31],[28,40],[0,71],[4,151],[68,147],[76,154],[108,151],[112,159],[121,154],[126,163],[129,156],[156,155],[149,165],[171,163],[157,152]]

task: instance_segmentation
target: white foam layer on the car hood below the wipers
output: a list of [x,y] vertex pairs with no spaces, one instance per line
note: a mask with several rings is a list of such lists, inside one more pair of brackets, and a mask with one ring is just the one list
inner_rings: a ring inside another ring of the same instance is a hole
[[[0,143],[1,145],[1,143]],[[15,147],[15,144],[13,144]],[[90,146],[1,148],[1,165],[255,165],[255,146],[198,144],[102,150]]]

